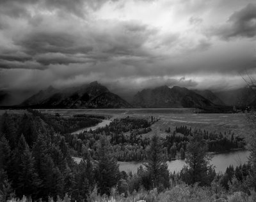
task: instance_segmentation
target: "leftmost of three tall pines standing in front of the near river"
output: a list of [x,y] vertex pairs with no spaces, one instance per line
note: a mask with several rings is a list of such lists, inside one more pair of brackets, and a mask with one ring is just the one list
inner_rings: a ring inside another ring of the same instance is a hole
[[105,135],[100,137],[97,154],[99,157],[96,174],[98,192],[100,195],[110,195],[111,188],[118,183],[120,173],[117,161],[111,154],[108,137]]

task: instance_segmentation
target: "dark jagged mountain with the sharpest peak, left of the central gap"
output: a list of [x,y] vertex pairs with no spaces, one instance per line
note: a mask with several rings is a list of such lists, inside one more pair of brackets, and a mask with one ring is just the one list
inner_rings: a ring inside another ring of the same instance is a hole
[[48,87],[26,99],[20,106],[37,108],[131,108],[124,99],[109,92],[100,83],[57,90]]

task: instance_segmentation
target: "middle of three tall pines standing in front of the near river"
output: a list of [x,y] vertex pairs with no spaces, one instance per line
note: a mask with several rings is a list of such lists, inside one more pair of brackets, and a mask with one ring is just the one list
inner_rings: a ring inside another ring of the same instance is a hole
[[163,154],[163,145],[157,134],[152,136],[145,167],[151,179],[151,187],[169,187],[168,165]]

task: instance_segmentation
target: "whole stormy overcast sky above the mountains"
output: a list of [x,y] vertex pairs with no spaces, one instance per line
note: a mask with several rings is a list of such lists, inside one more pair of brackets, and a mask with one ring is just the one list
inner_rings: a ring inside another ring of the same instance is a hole
[[237,88],[255,39],[255,0],[1,0],[0,89]]

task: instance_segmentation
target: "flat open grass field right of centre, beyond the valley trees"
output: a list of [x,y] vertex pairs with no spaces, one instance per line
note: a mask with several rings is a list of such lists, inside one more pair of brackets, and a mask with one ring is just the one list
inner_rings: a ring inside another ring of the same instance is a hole
[[192,129],[202,129],[209,132],[235,133],[247,138],[252,132],[252,124],[246,119],[243,113],[184,113],[157,115],[160,118],[152,126],[152,132],[145,135],[157,133],[161,136],[166,136],[165,129],[170,127],[170,130],[175,130],[176,126],[188,126]]

